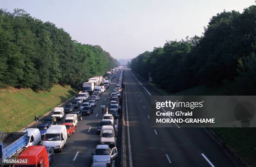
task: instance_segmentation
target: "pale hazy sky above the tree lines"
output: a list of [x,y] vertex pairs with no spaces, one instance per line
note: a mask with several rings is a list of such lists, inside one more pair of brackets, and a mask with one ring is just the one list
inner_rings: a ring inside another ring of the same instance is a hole
[[74,40],[100,45],[114,58],[133,58],[166,40],[201,35],[212,15],[254,0],[0,0],[0,8],[26,10]]

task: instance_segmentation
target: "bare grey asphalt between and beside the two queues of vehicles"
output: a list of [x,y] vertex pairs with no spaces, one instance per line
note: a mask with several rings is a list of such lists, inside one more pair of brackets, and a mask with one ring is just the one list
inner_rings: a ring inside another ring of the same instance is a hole
[[[95,151],[97,144],[100,144],[100,136],[97,134],[97,124],[100,124],[102,118],[101,105],[104,103],[108,106],[110,102],[110,94],[112,93],[119,77],[112,80],[110,86],[106,91],[101,94],[100,100],[97,101],[97,106],[94,108],[94,114],[90,116],[83,116],[81,121],[78,121],[75,133],[71,134],[71,137],[67,140],[67,146],[65,146],[60,153],[55,153],[54,161],[51,167],[90,167],[92,164],[92,154]],[[78,110],[78,109],[76,109]],[[121,115],[119,115],[120,118]],[[121,119],[119,119],[121,121]],[[117,119],[115,119],[117,121]],[[58,121],[57,124],[61,124]],[[118,158],[115,159],[113,166],[120,166],[120,127],[118,122],[118,138],[116,141],[116,147],[118,148]],[[116,165],[114,165],[116,164]]]

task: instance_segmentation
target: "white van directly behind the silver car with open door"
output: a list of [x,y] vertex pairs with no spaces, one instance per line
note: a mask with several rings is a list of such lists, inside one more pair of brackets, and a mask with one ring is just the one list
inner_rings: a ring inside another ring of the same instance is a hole
[[102,126],[100,132],[100,144],[108,144],[110,147],[115,147],[115,131],[113,126]]

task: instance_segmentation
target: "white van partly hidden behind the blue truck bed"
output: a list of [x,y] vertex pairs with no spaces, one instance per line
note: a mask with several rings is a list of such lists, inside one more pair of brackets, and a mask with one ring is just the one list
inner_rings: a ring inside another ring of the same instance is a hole
[[39,129],[37,128],[28,128],[23,130],[22,132],[28,131],[28,145],[27,146],[34,146],[39,145],[42,141],[41,134]]

